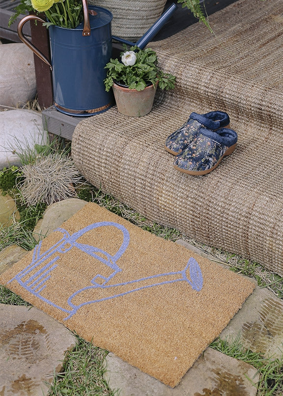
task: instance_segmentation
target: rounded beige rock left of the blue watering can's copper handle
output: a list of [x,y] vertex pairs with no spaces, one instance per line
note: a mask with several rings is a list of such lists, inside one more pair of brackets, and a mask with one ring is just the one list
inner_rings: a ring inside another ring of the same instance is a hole
[[16,107],[36,94],[32,51],[23,43],[0,46],[0,104]]

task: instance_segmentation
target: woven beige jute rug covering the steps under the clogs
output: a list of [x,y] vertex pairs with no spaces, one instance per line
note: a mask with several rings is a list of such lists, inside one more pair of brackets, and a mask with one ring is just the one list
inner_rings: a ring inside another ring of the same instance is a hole
[[[176,75],[151,113],[116,107],[81,121],[73,159],[87,180],[148,219],[283,276],[283,1],[239,0],[150,43]],[[234,153],[204,176],[173,169],[166,138],[192,112],[225,111]]]

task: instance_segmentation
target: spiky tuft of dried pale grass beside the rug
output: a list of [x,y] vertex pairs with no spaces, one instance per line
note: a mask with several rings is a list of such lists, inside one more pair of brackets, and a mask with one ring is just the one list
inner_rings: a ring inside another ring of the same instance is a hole
[[25,180],[19,189],[28,205],[50,204],[77,196],[74,183],[81,176],[70,157],[51,153],[37,158],[32,165],[23,166],[22,171]]

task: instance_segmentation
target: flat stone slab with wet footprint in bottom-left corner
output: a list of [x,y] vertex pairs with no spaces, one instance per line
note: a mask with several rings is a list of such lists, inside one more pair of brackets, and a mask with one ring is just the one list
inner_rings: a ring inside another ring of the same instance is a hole
[[0,395],[48,394],[54,372],[76,338],[62,324],[34,308],[0,304]]

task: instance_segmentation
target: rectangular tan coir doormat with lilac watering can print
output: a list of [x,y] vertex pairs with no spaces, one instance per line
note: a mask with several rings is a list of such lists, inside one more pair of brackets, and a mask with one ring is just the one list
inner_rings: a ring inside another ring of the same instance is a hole
[[174,387],[254,283],[88,203],[0,282]]

